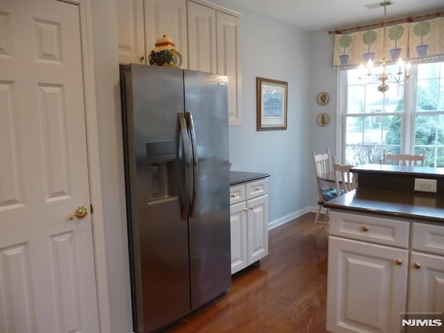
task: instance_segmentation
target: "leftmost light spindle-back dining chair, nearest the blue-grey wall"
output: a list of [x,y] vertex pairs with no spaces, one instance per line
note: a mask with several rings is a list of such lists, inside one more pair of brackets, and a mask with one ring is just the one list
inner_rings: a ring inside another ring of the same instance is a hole
[[332,195],[332,188],[328,186],[323,180],[323,175],[326,173],[332,172],[332,159],[330,157],[330,148],[327,149],[327,153],[316,154],[313,151],[313,164],[314,164],[314,174],[316,176],[316,191],[318,193],[318,212],[316,212],[316,216],[313,221],[313,227],[311,228],[311,234],[314,232],[314,228],[316,228],[316,224],[320,223],[323,225],[328,224],[328,213],[329,210],[325,212],[324,220],[321,221],[321,210],[323,204],[330,200],[329,194]]

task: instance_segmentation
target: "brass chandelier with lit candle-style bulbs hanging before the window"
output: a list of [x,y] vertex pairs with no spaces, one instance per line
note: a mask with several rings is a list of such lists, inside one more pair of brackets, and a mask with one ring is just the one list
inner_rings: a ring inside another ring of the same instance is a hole
[[[359,81],[364,80],[364,85],[368,84],[377,84],[377,89],[379,92],[383,94],[388,90],[388,81],[392,81],[398,85],[404,85],[404,82],[409,82],[410,78],[410,62],[404,63],[401,56],[398,58],[398,72],[396,73],[388,73],[386,69],[387,65],[387,49],[386,49],[386,15],[387,15],[387,1],[384,1],[384,20],[382,22],[383,29],[383,37],[382,37],[382,57],[379,58],[379,66],[381,67],[381,71],[377,74],[372,74],[373,61],[371,58],[368,58],[368,62],[366,66],[361,63],[359,66]],[[408,37],[407,37],[408,38]],[[409,46],[407,45],[407,59],[409,58]],[[402,71],[404,70],[404,71]],[[404,76],[402,75],[404,74]]]

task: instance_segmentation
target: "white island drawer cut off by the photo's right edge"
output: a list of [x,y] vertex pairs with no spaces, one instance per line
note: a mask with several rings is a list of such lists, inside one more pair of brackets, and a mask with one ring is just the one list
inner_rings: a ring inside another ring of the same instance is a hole
[[444,225],[412,223],[411,247],[437,255],[444,255]]

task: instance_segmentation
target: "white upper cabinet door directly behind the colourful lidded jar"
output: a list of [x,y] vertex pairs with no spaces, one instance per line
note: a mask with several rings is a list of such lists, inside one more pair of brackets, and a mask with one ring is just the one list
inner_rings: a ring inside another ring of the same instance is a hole
[[187,0],[145,0],[144,8],[147,58],[156,40],[167,35],[182,55],[181,68],[187,69]]

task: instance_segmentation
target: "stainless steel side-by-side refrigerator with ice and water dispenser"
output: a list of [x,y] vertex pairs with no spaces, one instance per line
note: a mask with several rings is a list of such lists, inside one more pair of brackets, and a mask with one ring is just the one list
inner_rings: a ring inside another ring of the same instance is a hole
[[121,66],[135,332],[230,288],[228,80]]

